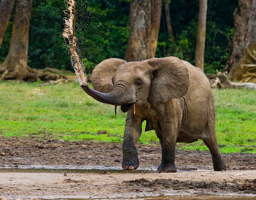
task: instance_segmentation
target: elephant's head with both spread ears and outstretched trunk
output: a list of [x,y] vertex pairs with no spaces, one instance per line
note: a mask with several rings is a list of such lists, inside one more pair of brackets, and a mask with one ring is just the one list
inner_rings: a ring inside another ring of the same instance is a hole
[[106,59],[94,68],[91,80],[94,89],[81,85],[83,90],[102,103],[121,105],[122,112],[146,101],[154,107],[180,98],[189,86],[188,70],[176,57],[140,62]]

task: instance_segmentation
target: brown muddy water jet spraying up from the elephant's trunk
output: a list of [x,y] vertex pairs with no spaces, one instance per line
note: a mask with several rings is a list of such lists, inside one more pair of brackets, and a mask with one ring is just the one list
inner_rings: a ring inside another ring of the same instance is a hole
[[[87,85],[86,75],[84,74],[84,68],[81,64],[81,60],[76,51],[76,36],[75,36],[75,16],[76,16],[76,1],[75,0],[65,0],[67,3],[67,9],[64,13],[67,17],[64,17],[65,28],[63,29],[64,39],[68,39],[68,45],[71,52],[71,64],[74,68],[78,83],[80,85]],[[65,40],[66,41],[66,40]]]

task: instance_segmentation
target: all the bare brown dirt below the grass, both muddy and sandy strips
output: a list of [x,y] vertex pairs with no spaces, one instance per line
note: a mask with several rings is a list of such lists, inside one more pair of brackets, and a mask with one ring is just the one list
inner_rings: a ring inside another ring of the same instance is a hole
[[[160,145],[137,145],[140,167],[155,170]],[[0,173],[6,198],[114,198],[159,195],[256,195],[256,154],[223,154],[227,172],[214,172],[209,151],[176,150],[177,173],[123,173],[122,144],[0,137],[0,167],[117,169],[106,173]],[[251,196],[252,197],[252,196]],[[256,196],[252,197],[256,198]]]

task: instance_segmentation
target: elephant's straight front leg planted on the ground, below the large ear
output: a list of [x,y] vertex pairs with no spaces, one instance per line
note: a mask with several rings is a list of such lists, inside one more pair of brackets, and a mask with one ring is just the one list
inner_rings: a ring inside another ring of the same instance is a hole
[[167,123],[162,127],[162,161],[157,168],[157,173],[176,172],[175,147],[178,136],[179,123]]

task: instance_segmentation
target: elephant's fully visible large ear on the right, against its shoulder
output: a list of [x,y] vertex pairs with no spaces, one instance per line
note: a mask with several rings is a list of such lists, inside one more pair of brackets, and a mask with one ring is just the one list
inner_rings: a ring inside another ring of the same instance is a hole
[[183,97],[189,86],[188,69],[176,57],[152,58],[148,60],[154,68],[147,101],[158,106],[170,99]]

